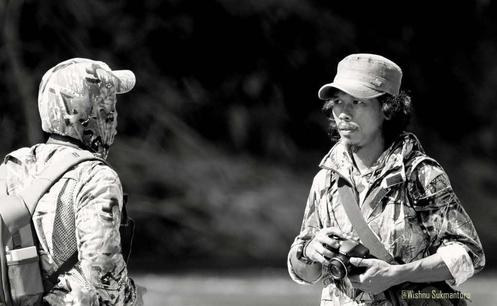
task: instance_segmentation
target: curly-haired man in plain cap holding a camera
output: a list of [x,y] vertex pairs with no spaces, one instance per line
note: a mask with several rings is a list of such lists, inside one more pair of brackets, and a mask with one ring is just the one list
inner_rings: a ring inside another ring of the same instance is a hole
[[[322,306],[390,306],[385,291],[392,286],[436,281],[457,286],[485,264],[478,235],[447,174],[413,134],[403,132],[411,99],[400,90],[401,78],[392,61],[353,54],[338,64],[333,82],[319,90],[337,143],[314,178],[288,269],[297,283],[323,281]],[[393,173],[399,174],[399,183],[364,205]],[[328,265],[335,253],[330,246],[338,248],[341,239],[360,240],[344,211],[337,177],[352,186],[368,227],[399,264],[352,257],[350,263],[364,272],[331,277]],[[441,305],[435,299],[430,303]]]

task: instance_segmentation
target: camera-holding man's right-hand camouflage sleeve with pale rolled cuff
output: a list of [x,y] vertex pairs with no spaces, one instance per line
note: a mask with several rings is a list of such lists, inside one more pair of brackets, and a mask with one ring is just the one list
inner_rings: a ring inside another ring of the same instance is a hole
[[409,178],[408,191],[432,245],[453,276],[452,285],[483,269],[482,244],[445,171],[435,162],[421,162]]

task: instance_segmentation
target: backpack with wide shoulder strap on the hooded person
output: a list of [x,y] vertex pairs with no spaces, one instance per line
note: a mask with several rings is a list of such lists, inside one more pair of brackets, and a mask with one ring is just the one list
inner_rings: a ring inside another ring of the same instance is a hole
[[[7,195],[6,165],[0,166],[0,306],[39,306],[43,294],[57,283],[59,275],[69,271],[78,262],[78,250],[47,280],[42,280],[37,235],[31,218],[41,197],[68,170],[83,161],[108,162],[89,151],[68,153],[45,167],[31,186],[15,195]],[[5,161],[7,162],[7,161]],[[121,211],[121,244],[124,260],[131,251],[134,222],[126,212],[124,195]]]

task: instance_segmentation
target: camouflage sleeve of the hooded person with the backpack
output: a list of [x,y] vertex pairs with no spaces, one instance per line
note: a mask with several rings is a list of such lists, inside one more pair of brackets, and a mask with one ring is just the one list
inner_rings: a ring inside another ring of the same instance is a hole
[[100,305],[132,305],[136,288],[120,253],[121,182],[97,164],[83,173],[75,207],[79,259]]

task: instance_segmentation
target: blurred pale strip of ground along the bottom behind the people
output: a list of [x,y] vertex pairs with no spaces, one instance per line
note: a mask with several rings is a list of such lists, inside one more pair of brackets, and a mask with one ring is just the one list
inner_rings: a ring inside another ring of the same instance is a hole
[[[496,305],[495,272],[477,274],[457,288],[471,294],[472,303],[468,305]],[[133,278],[148,289],[146,306],[318,306],[322,289],[320,283],[298,285],[283,269],[143,274]]]

